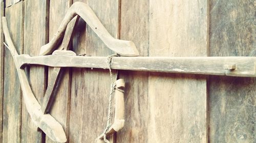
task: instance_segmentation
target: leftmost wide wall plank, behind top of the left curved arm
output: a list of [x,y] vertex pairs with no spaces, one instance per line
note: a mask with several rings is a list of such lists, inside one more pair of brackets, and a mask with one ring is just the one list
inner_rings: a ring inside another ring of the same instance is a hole
[[[5,9],[11,38],[18,53],[23,53],[24,2]],[[20,142],[20,120],[22,92],[12,56],[5,50],[4,65],[4,107],[3,107],[3,142]]]

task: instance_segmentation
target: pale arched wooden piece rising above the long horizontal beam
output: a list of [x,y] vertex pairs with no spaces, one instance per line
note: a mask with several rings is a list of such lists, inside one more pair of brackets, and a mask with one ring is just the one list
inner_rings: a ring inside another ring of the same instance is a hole
[[52,40],[41,47],[39,55],[50,54],[57,48],[57,45],[62,40],[63,35],[66,31],[68,23],[76,15],[79,15],[87,25],[98,35],[98,37],[105,43],[107,47],[115,51],[120,55],[125,56],[138,56],[139,52],[132,41],[125,41],[113,38],[106,28],[102,25],[98,17],[95,15],[93,10],[84,3],[75,2],[68,10],[65,18],[62,20],[58,32],[54,35]]

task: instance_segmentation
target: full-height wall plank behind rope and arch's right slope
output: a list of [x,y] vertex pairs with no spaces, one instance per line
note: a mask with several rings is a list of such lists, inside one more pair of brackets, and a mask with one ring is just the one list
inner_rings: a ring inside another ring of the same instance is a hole
[[[119,1],[108,0],[102,3],[100,0],[87,0],[87,4],[92,8],[111,36],[117,38],[119,34]],[[86,27],[85,40],[86,53],[89,55],[107,56],[114,53],[112,50],[106,48],[105,44],[98,38],[98,36],[89,26]],[[85,89],[81,90],[87,94],[83,95],[84,98],[82,110],[84,113],[82,115],[82,142],[94,142],[94,140],[104,131],[106,127],[111,84],[110,74],[105,70],[87,70],[84,74],[84,78],[86,81]],[[112,117],[114,120],[113,113]],[[93,133],[89,133],[88,130],[92,130]],[[114,141],[112,136],[110,136],[108,139],[111,142]]]

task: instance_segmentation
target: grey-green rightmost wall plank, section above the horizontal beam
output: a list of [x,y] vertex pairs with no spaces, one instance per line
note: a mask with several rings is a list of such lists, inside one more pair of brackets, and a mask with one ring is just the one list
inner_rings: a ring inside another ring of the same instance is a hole
[[210,2],[210,56],[255,56],[255,2]]

